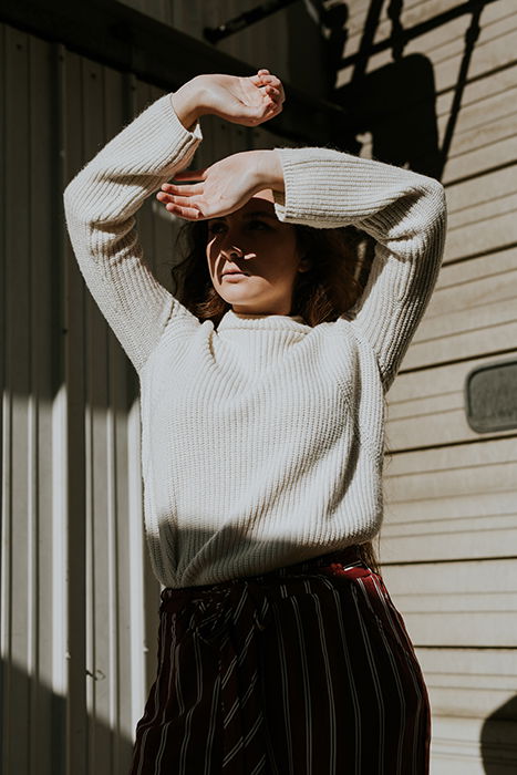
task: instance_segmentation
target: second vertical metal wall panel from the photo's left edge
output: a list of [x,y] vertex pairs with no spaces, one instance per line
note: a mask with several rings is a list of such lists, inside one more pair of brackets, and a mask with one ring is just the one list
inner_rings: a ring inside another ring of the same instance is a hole
[[[31,372],[30,402],[34,411],[33,452],[34,487],[31,498],[33,515],[32,572],[28,579],[33,596],[32,631],[33,670],[31,671],[31,745],[30,772],[52,769],[52,388],[55,337],[59,320],[53,318],[59,301],[55,283],[55,258],[52,224],[56,216],[56,196],[49,196],[49,183],[54,180],[53,156],[56,149],[52,105],[54,55],[52,49],[35,38],[29,38],[30,55],[30,174],[27,185],[30,210],[31,242]],[[58,339],[58,341],[55,341]],[[31,578],[32,577],[32,578]]]

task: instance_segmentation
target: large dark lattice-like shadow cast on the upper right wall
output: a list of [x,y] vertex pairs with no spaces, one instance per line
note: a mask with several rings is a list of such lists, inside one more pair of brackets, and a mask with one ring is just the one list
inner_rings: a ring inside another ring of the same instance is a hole
[[[350,135],[335,137],[334,143],[360,153],[365,142],[362,135],[370,136],[374,158],[441,179],[462,106],[472,54],[479,37],[480,14],[488,1],[479,0],[468,9],[458,4],[412,29],[404,29],[401,21],[403,0],[391,0],[387,4],[384,0],[371,0],[359,45],[347,56],[350,3],[313,0],[320,9],[320,27],[327,40],[327,82],[335,84],[340,72],[347,76],[347,83],[331,89],[328,95],[348,111],[350,120]],[[385,4],[391,31],[379,41],[378,28]],[[433,64],[423,53],[406,55],[404,49],[424,32],[440,29],[467,12],[471,22],[465,33],[451,112],[440,142]],[[372,58],[385,51],[391,51],[392,61],[369,69]]]

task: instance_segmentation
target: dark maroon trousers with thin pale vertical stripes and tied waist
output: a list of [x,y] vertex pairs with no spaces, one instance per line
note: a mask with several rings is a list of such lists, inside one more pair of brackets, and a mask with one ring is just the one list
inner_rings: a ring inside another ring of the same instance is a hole
[[162,593],[131,775],[426,775],[427,692],[356,547]]

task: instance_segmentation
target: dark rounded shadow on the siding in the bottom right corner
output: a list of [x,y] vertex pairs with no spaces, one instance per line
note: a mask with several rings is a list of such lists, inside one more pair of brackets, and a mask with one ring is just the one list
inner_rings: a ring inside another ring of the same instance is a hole
[[485,719],[482,728],[482,761],[486,775],[515,773],[517,741],[517,696]]

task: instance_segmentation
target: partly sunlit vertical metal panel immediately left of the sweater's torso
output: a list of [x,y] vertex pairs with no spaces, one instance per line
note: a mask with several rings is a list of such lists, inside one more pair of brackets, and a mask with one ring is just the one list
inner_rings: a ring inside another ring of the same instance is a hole
[[[128,120],[130,82],[110,70],[104,71],[104,131],[106,137],[112,137],[121,125]],[[114,638],[112,641],[112,728],[113,740],[113,772],[124,772],[131,753],[136,721],[142,715],[144,691],[143,686],[137,698],[137,711],[133,713],[133,683],[142,684],[139,675],[143,672],[142,628],[143,599],[142,576],[146,550],[143,540],[142,493],[132,497],[130,484],[141,482],[139,461],[132,472],[130,462],[130,424],[132,413],[138,415],[138,396],[136,376],[128,364],[115,335],[107,331],[107,381],[108,381],[108,437],[107,455],[111,469],[110,498],[110,533],[113,546],[112,557],[112,617]],[[137,416],[138,420],[138,416]],[[139,424],[138,424],[139,432]],[[131,527],[130,509],[136,507],[137,524]],[[131,560],[131,542],[137,541],[138,562]],[[135,576],[138,583],[135,597],[131,593],[130,579]],[[139,648],[132,643],[132,611],[138,611],[136,633],[139,633]],[[127,680],[127,676],[131,676]],[[135,717],[135,715],[137,717]]]

